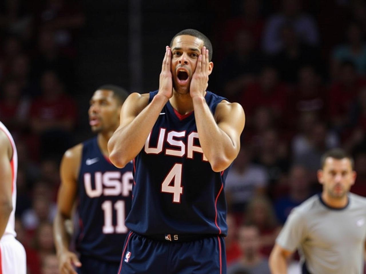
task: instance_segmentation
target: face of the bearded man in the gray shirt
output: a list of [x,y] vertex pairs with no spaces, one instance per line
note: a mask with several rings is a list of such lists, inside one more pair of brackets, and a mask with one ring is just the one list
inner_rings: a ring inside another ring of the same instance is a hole
[[318,180],[323,185],[326,195],[340,199],[347,195],[355,183],[356,172],[352,170],[350,159],[326,158],[322,170],[318,171]]

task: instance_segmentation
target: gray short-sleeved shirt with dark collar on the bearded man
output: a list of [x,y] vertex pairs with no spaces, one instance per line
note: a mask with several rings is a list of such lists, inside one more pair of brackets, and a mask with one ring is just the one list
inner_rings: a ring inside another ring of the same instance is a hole
[[365,237],[366,198],[350,193],[348,204],[335,209],[314,195],[292,210],[276,243],[298,248],[312,274],[362,274]]

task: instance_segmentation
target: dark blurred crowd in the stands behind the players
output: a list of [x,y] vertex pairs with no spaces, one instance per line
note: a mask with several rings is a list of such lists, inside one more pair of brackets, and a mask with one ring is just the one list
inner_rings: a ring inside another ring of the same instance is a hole
[[[1,1],[0,121],[18,149],[16,232],[29,274],[56,274],[52,220],[60,157],[80,120],[75,41],[85,16],[79,1],[28,2]],[[207,33],[209,87],[246,113],[225,187],[228,274],[265,274],[291,209],[321,191],[316,171],[326,150],[354,156],[351,191],[366,196],[366,3],[220,3]],[[299,269],[295,254],[290,273]]]

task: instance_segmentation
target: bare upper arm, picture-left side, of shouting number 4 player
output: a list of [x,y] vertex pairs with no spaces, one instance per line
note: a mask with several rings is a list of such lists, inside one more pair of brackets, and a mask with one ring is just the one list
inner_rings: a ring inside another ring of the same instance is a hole
[[148,103],[149,94],[139,94],[137,92],[130,94],[121,108],[119,128],[130,124]]

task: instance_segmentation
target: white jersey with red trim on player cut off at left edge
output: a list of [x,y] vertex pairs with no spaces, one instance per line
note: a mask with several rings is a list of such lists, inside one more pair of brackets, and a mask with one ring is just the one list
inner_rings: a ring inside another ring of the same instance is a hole
[[[10,213],[8,224],[6,225],[4,236],[5,235],[13,235],[16,236],[14,227],[15,227],[15,205],[16,205],[16,173],[18,171],[18,154],[16,153],[16,147],[13,140],[13,137],[11,136],[8,129],[4,126],[3,123],[0,122],[0,130],[2,130],[6,136],[8,136],[9,141],[11,143],[11,146],[13,148],[13,156],[10,160],[11,165],[11,174],[12,174],[12,181],[11,181],[11,199],[12,199],[12,206],[13,210]],[[1,180],[1,178],[0,178]],[[3,183],[3,182],[1,182]]]

